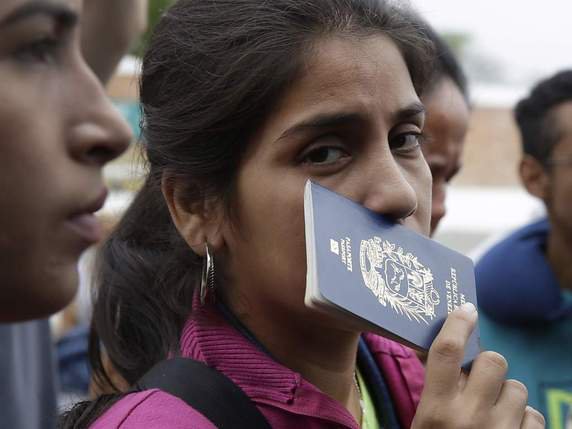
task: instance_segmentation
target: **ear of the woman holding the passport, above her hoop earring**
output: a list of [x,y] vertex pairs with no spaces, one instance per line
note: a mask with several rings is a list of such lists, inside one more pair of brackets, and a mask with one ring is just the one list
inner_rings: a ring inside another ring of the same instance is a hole
[[204,199],[190,203],[187,186],[166,175],[161,179],[161,191],[173,224],[193,252],[205,256],[206,243],[215,251],[222,248],[222,204]]

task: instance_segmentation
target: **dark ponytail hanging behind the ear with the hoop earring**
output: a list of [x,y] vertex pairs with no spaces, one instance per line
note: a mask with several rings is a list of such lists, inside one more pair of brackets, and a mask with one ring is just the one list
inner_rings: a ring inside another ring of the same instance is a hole
[[178,351],[189,317],[201,258],[175,229],[159,184],[149,175],[98,255],[90,352],[98,381],[109,382],[100,342],[131,385]]

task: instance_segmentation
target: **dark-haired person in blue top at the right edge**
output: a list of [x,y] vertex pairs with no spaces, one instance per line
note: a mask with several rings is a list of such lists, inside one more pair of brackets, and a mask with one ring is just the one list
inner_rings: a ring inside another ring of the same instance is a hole
[[[572,70],[538,83],[515,108],[526,190],[547,216],[520,228],[476,265],[481,343],[550,429],[572,428]],[[492,149],[491,149],[492,150]],[[568,422],[568,423],[566,423]]]

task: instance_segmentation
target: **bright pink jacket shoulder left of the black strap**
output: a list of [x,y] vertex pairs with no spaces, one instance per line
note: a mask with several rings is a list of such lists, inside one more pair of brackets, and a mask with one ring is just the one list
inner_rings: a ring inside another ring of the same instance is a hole
[[127,395],[101,416],[91,429],[215,429],[202,414],[159,389]]

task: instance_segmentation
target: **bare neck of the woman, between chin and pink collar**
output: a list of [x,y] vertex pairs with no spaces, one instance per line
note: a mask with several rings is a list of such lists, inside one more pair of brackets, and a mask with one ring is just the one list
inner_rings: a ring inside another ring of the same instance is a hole
[[250,304],[248,313],[229,307],[278,362],[340,402],[359,422],[362,410],[354,381],[359,333],[334,329],[335,322],[312,310],[294,314]]

